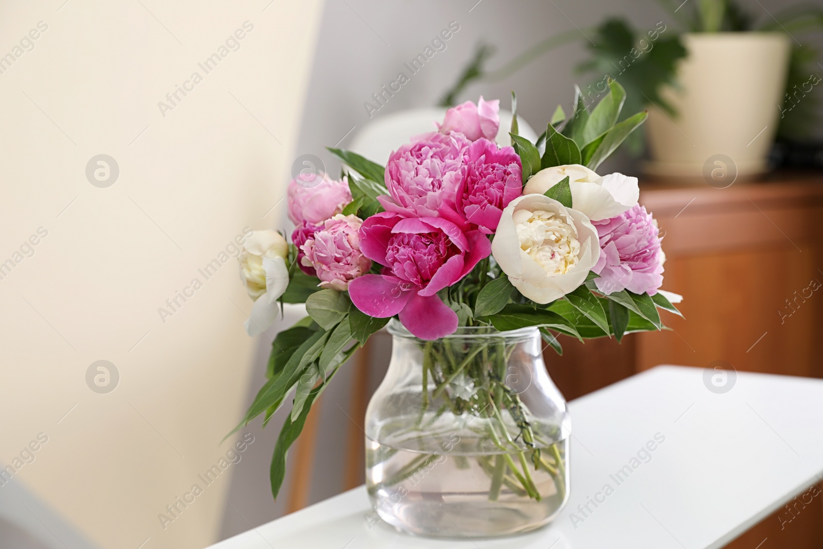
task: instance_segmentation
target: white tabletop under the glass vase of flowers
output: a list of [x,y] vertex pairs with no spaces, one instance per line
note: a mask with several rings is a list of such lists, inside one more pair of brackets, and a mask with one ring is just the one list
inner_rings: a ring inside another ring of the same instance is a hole
[[[823,480],[823,380],[738,373],[732,389],[718,394],[703,374],[658,366],[571,402],[569,504],[537,532],[454,542],[397,533],[382,522],[370,527],[360,486],[212,547],[723,547]],[[665,440],[648,463],[631,463],[658,433]],[[633,464],[618,484],[612,475]],[[589,503],[584,515],[578,506],[595,497],[602,503]]]

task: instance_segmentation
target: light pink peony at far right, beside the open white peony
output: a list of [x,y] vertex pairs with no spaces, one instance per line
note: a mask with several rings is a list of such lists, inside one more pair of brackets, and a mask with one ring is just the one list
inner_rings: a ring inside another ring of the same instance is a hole
[[619,216],[592,221],[600,237],[600,259],[592,268],[594,283],[604,294],[628,290],[658,293],[663,284],[666,255],[660,247],[658,223],[646,208],[635,204]]

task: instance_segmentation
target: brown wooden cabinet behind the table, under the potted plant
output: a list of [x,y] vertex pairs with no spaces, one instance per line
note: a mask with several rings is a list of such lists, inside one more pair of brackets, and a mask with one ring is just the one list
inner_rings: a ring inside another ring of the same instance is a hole
[[[685,318],[664,313],[671,330],[622,344],[563,337],[546,364],[566,398],[658,364],[823,378],[823,174],[722,189],[641,181],[640,203],[664,234],[663,289],[685,296]],[[793,528],[774,514],[728,547],[823,547],[821,514],[816,502]]]

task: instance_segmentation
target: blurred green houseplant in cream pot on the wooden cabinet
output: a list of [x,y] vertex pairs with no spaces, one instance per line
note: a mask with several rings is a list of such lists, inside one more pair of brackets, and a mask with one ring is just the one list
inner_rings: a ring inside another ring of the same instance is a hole
[[[627,107],[648,105],[645,168],[653,174],[700,176],[707,161],[710,169],[740,175],[765,171],[775,135],[799,139],[815,126],[816,101],[807,95],[821,81],[816,52],[794,37],[823,29],[823,9],[790,7],[756,26],[732,0],[659,2],[679,28],[660,22],[640,33],[608,19],[584,30],[592,38],[584,42],[592,56],[579,69],[595,75],[584,97],[601,96],[607,80],[616,79],[629,91]],[[446,100],[455,100],[472,81],[508,77],[572,40],[579,40],[576,29],[542,40],[491,71],[491,49],[481,46]],[[638,137],[630,139],[635,152],[642,150]],[[712,157],[718,155],[726,158],[715,165]]]

